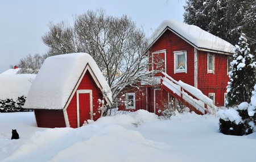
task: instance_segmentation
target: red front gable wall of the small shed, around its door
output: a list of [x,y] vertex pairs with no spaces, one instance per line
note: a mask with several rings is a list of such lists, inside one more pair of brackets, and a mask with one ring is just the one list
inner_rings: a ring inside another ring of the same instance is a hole
[[[101,104],[98,102],[98,99],[102,99],[103,95],[101,90],[97,87],[96,83],[94,82],[92,76],[89,72],[86,72],[84,77],[82,78],[82,81],[80,82],[80,85],[78,86],[77,90],[80,89],[90,89],[92,90],[93,95],[93,120],[97,120],[100,117],[100,113],[98,112],[99,106]],[[71,127],[76,128],[77,127],[77,105],[76,105],[76,93],[73,95],[71,102],[69,103],[67,107],[68,112],[68,119],[69,124]],[[90,112],[88,112],[90,113]]]

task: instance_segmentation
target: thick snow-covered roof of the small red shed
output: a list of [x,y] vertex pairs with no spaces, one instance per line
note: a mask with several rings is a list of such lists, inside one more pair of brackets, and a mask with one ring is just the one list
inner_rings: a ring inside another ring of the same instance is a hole
[[36,76],[24,107],[27,109],[64,109],[86,67],[92,69],[107,102],[112,93],[101,70],[88,53],[71,53],[48,57]]

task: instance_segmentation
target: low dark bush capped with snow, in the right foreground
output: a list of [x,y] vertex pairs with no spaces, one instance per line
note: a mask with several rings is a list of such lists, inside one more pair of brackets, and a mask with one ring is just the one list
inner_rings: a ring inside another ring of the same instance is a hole
[[251,102],[242,102],[233,109],[221,109],[220,132],[226,135],[247,135],[253,132],[256,124],[256,85],[252,92]]

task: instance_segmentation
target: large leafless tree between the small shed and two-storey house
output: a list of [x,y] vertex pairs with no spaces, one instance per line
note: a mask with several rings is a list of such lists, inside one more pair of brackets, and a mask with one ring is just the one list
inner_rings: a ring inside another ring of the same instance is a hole
[[[114,99],[123,88],[137,86],[138,80],[151,74],[147,71],[147,39],[143,30],[126,15],[115,18],[105,15],[103,10],[87,11],[76,16],[73,31],[67,29],[71,27],[63,23],[50,26],[50,31],[43,36],[49,51],[89,53],[106,77]],[[56,36],[63,31],[72,35]],[[70,50],[63,51],[69,44]]]

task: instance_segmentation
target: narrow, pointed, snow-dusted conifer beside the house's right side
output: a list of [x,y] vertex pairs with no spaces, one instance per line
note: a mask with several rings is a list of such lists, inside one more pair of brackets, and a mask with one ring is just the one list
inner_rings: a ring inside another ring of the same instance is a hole
[[254,90],[255,59],[250,54],[245,34],[242,34],[236,45],[236,53],[231,63],[232,70],[229,72],[228,103],[226,106],[235,106],[241,102],[250,102],[251,92]]

